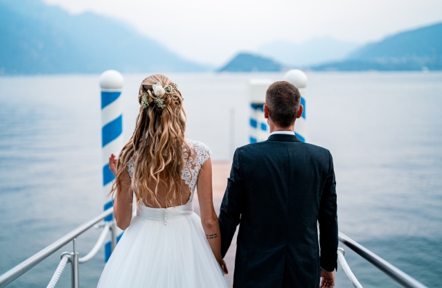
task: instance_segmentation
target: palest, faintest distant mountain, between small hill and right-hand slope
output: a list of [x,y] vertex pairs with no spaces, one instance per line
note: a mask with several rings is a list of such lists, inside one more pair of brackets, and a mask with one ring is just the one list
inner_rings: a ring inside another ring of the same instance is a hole
[[324,62],[343,60],[358,44],[344,42],[331,37],[316,37],[301,44],[275,41],[260,46],[260,55],[290,66],[310,66]]

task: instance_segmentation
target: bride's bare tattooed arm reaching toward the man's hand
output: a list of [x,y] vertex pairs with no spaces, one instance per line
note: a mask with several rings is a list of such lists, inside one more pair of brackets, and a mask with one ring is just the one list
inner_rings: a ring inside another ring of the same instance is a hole
[[[211,159],[207,159],[201,167],[197,180],[198,202],[200,203],[201,223],[206,238],[209,241],[213,255],[216,260],[223,266],[221,258],[221,237],[220,225],[218,224],[218,216],[213,208],[212,196],[212,163]],[[226,272],[226,271],[224,271]]]

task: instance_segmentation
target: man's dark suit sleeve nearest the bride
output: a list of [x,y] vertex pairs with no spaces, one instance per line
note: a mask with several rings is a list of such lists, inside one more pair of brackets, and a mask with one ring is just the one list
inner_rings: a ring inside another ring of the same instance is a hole
[[244,198],[245,186],[242,177],[242,163],[240,150],[237,149],[233,155],[230,177],[227,179],[227,188],[222,198],[220,215],[218,217],[218,222],[220,222],[222,258],[226,255],[233,235],[235,234],[236,226],[240,223]]

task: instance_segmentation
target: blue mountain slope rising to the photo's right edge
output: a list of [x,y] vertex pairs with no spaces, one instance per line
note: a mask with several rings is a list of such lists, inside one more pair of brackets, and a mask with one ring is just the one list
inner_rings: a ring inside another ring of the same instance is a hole
[[442,70],[442,23],[387,37],[368,44],[346,60],[312,67],[317,71]]

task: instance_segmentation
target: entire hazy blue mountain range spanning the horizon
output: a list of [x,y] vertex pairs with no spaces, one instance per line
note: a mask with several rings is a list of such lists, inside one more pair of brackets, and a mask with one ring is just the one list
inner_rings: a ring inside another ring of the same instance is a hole
[[442,23],[357,48],[330,37],[269,42],[219,69],[177,55],[122,21],[40,0],[0,0],[0,75],[136,72],[442,70]]

